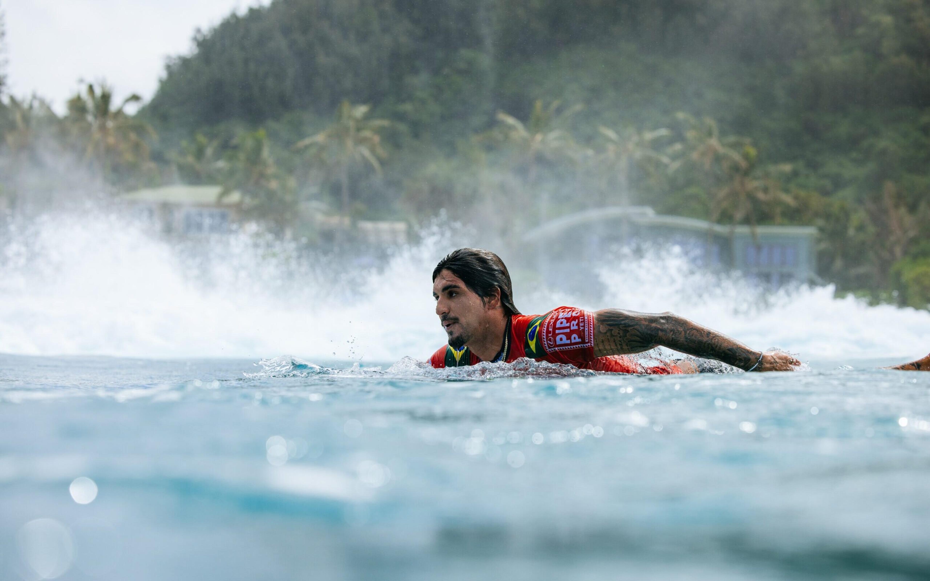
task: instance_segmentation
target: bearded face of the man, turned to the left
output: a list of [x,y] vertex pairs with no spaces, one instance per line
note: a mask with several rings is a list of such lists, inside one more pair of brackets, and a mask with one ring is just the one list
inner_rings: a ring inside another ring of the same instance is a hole
[[432,283],[436,314],[449,336],[449,345],[461,349],[487,324],[490,310],[477,294],[450,271],[440,271]]

